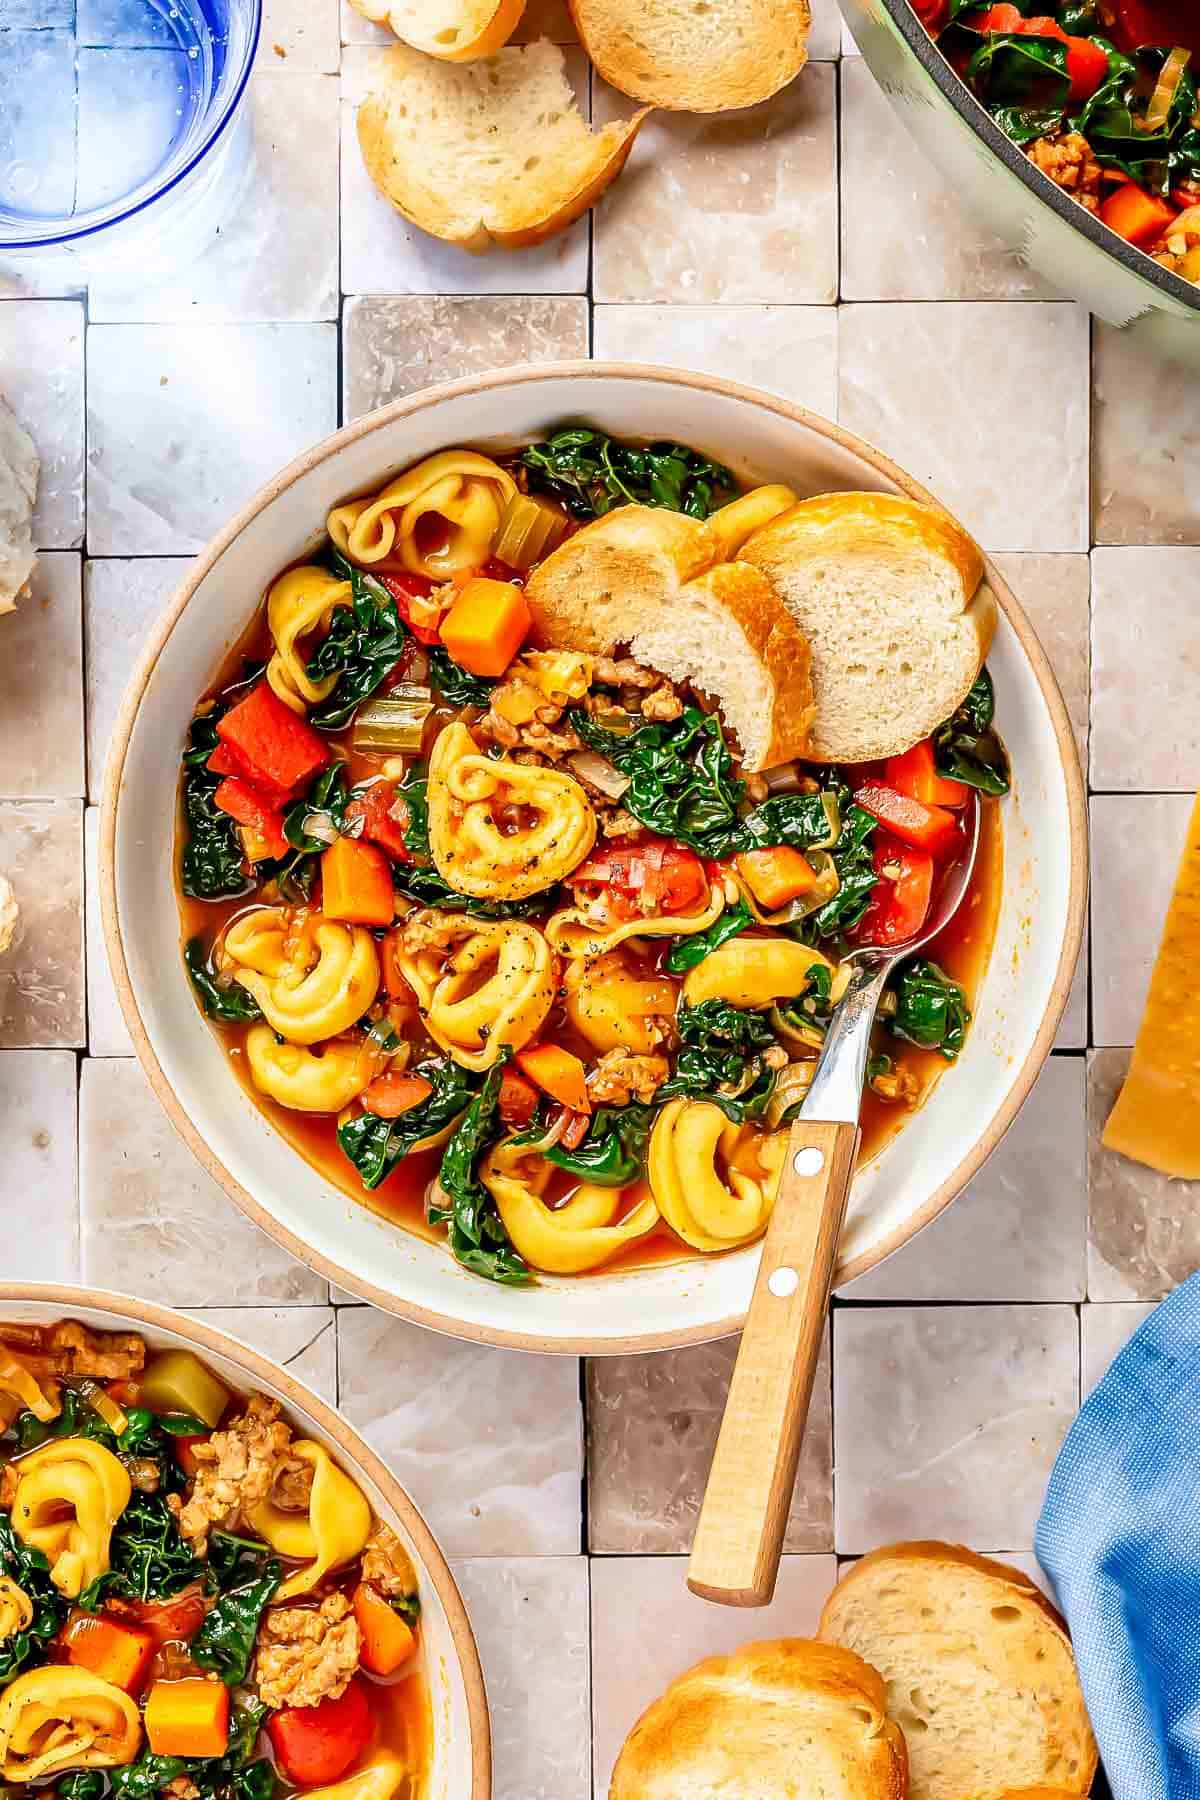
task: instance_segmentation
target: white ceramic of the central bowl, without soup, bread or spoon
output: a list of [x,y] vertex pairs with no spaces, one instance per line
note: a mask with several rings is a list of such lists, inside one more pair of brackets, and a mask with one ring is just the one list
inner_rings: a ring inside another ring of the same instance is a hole
[[[175,765],[198,695],[266,583],[309,553],[327,509],[450,445],[507,448],[570,419],[675,437],[743,477],[928,499],[815,414],[669,369],[558,364],[430,389],[300,457],[209,545],[158,621],[113,733],[101,824],[104,931],[142,1066],[171,1121],[272,1237],[329,1280],[421,1325],[527,1350],[628,1352],[739,1328],[757,1249],[507,1289],[331,1188],[241,1091],[196,1013],[171,889]],[[1061,695],[1033,628],[991,571],[1002,617],[990,655],[1013,758],[1004,902],[959,1064],[855,1183],[838,1280],[928,1224],[1013,1121],[1051,1048],[1083,932],[1085,810]]]

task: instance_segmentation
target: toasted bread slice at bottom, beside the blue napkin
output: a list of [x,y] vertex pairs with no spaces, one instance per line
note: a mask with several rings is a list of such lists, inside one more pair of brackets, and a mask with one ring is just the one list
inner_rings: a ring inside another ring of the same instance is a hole
[[1020,1570],[957,1544],[891,1544],[838,1582],[819,1636],[887,1681],[914,1800],[1090,1791],[1096,1741],[1067,1627]]

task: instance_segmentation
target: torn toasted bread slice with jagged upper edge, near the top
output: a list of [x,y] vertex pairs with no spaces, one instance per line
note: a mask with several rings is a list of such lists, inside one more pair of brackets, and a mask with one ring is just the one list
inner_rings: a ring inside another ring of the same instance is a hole
[[525,248],[615,182],[646,110],[592,131],[554,43],[435,63],[398,43],[358,108],[367,173],[398,212],[464,250]]

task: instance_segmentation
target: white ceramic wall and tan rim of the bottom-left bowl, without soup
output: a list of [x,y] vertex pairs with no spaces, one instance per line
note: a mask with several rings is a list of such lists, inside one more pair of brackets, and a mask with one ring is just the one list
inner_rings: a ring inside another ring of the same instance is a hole
[[81,1319],[94,1330],[137,1330],[151,1350],[187,1348],[241,1393],[270,1393],[358,1481],[376,1517],[412,1557],[421,1589],[425,1676],[434,1714],[434,1768],[421,1800],[491,1800],[491,1728],[475,1638],[462,1597],[434,1534],[403,1487],[356,1431],[275,1363],[227,1332],[166,1307],[95,1287],[0,1282],[0,1321],[52,1325]]

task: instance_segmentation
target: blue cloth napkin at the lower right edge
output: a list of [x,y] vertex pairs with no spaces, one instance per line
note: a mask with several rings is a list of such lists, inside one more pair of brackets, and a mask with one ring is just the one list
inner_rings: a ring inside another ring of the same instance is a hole
[[1115,1800],[1200,1800],[1200,1274],[1067,1433],[1036,1552]]

